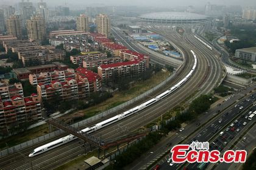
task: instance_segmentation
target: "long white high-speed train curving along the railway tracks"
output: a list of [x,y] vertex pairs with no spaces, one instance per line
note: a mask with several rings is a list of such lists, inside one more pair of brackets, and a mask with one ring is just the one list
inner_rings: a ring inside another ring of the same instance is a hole
[[[145,109],[148,106],[151,106],[152,104],[156,103],[157,101],[161,100],[162,98],[165,98],[174,90],[178,89],[182,84],[184,84],[193,74],[194,70],[197,66],[197,58],[195,53],[191,50],[191,53],[194,56],[194,65],[190,72],[187,74],[185,78],[183,78],[179,83],[177,83],[175,86],[171,87],[170,89],[166,90],[162,94],[158,95],[155,98],[152,98],[151,100],[146,101],[145,103],[140,104],[139,106],[133,107],[130,110],[127,110],[126,112],[123,112],[122,114],[116,115],[115,117],[108,118],[107,120],[104,120],[100,123],[97,123],[91,127],[87,127],[85,129],[82,129],[80,132],[86,132],[90,134],[91,132],[97,131],[98,129],[101,129],[102,127],[108,126],[109,124],[115,123],[116,121],[119,121],[123,118],[129,117],[130,115],[133,115],[137,113],[138,111]],[[35,155],[42,154],[43,152],[49,151],[51,149],[57,148],[58,146],[68,143],[69,141],[75,140],[77,137],[74,135],[67,135],[66,137],[59,138],[58,140],[54,140],[51,143],[44,144],[43,146],[40,146],[38,148],[35,148],[30,154],[29,157],[34,157]]]

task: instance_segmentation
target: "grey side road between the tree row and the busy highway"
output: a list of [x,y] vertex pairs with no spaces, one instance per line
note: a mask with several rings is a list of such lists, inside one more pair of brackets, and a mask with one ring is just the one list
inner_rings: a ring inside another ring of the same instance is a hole
[[[183,132],[179,132],[179,131],[173,132],[174,134],[170,134],[169,137],[166,137],[163,141],[161,141],[159,144],[157,144],[157,146],[152,148],[150,150],[150,152],[148,152],[147,154],[144,154],[143,156],[138,158],[135,162],[133,162],[131,165],[127,166],[126,169],[133,169],[133,170],[146,169],[147,165],[150,165],[150,163],[153,163],[155,160],[157,160],[157,158],[160,157],[160,155],[162,155],[163,153],[165,153],[166,150],[171,149],[171,146],[166,147],[166,144],[168,144],[169,142],[171,142],[172,146],[173,146],[174,144],[177,144],[180,141],[182,141],[184,138],[187,138],[189,135],[191,135],[191,137],[186,139],[186,141],[190,141],[192,138],[197,137],[198,135],[201,136],[201,134],[207,135],[207,134],[205,134],[205,132],[206,132],[205,129],[207,129],[206,128],[207,125],[212,126],[212,124],[214,123],[213,121],[218,121],[219,118],[222,117],[222,115],[226,114],[226,112],[222,112],[222,110],[226,109],[227,107],[229,107],[230,105],[232,105],[235,102],[240,103],[240,102],[238,102],[238,99],[244,97],[245,94],[248,94],[255,87],[256,86],[249,87],[248,89],[241,91],[240,93],[236,94],[235,97],[230,98],[230,100],[227,100],[227,101],[223,100],[221,102],[221,106],[212,107],[210,110],[208,110],[208,114],[204,114],[201,117],[197,118],[197,120],[193,121],[193,123],[187,124],[187,126],[185,126],[185,130]],[[235,104],[233,104],[233,105],[235,105]],[[233,106],[231,109],[233,109]],[[221,110],[221,113],[216,114],[217,110]],[[228,111],[230,111],[230,110],[228,110]],[[198,128],[198,126],[196,126],[196,123],[199,122],[202,125],[209,120],[210,120],[210,122],[205,124],[205,126],[203,126],[203,127],[199,126],[201,128],[198,129],[197,131],[199,131],[200,133],[197,133],[196,129]],[[208,129],[207,129],[207,131],[208,131]],[[151,152],[153,152],[153,154],[151,154]],[[163,160],[159,161],[158,164],[162,165],[163,163],[166,162],[167,159],[168,159],[168,157],[163,158]],[[169,165],[167,165],[167,164],[162,166],[162,168],[164,169],[165,166],[166,166],[166,169],[170,168]]]

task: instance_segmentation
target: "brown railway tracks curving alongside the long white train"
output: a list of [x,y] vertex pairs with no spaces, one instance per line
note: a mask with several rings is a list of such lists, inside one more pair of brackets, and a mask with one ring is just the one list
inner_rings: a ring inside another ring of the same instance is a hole
[[[166,32],[167,31],[168,30],[166,30]],[[172,86],[174,83],[185,77],[185,75],[191,69],[193,63],[193,57],[189,51],[197,50],[198,48],[200,49],[196,52],[198,58],[198,67],[190,80],[182,87],[180,87],[180,89],[178,89],[176,92],[166,97],[164,100],[159,101],[153,106],[142,110],[141,112],[138,112],[138,114],[132,115],[125,120],[121,120],[120,122],[96,131],[93,135],[102,137],[105,140],[118,137],[119,135],[123,135],[123,133],[134,131],[135,129],[138,129],[139,127],[160,117],[160,115],[164,114],[167,110],[185,100],[199,88],[201,89],[201,92],[205,93],[209,92],[214,86],[216,86],[216,84],[218,84],[218,81],[221,79],[222,75],[218,59],[212,55],[208,56],[206,47],[197,44],[194,45],[195,47],[191,46],[190,43],[185,41],[182,37],[177,36],[176,34],[174,34],[173,37],[177,38],[174,43],[183,50],[187,64],[184,65],[185,69],[179,73],[179,76],[176,78],[176,80],[169,83],[168,86],[164,87],[162,90],[165,90],[165,88]],[[169,39],[172,40],[171,38]],[[133,44],[133,42],[130,44]],[[158,93],[160,93],[160,91],[158,91]],[[91,124],[88,124],[88,126],[90,125]],[[45,141],[44,143],[49,141],[52,141],[52,139]],[[0,158],[0,167],[2,169],[29,169],[32,163],[34,169],[51,169],[59,166],[62,163],[65,163],[65,161],[77,157],[77,155],[84,153],[84,149],[82,148],[82,143],[80,140],[74,140],[41,155],[32,158],[27,157],[29,152],[32,151],[32,148],[37,148],[37,146],[40,146],[40,144],[37,144],[34,147],[23,149],[16,154]]]

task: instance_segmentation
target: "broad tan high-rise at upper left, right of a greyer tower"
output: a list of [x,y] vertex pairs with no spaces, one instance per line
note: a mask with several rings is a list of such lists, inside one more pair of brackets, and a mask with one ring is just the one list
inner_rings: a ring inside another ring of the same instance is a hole
[[32,16],[27,20],[27,35],[30,39],[46,39],[46,23],[41,16]]

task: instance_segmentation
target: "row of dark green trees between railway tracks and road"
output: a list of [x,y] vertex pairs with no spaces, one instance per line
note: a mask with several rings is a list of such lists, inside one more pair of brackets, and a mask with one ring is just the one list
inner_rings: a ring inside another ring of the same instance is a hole
[[193,120],[196,115],[202,114],[206,110],[210,109],[210,97],[207,95],[201,95],[196,98],[190,105],[190,108],[185,114],[177,114],[176,120],[169,121],[165,124],[165,121],[162,121],[162,129],[158,132],[151,132],[143,140],[139,141],[137,144],[133,144],[130,148],[127,149],[123,154],[116,157],[115,164],[113,167],[108,166],[107,169],[123,169],[124,166],[132,163],[133,160],[143,155],[149,149],[151,149],[155,144],[157,144],[162,137],[166,136],[169,131],[173,131],[181,127],[181,123],[185,121]]

